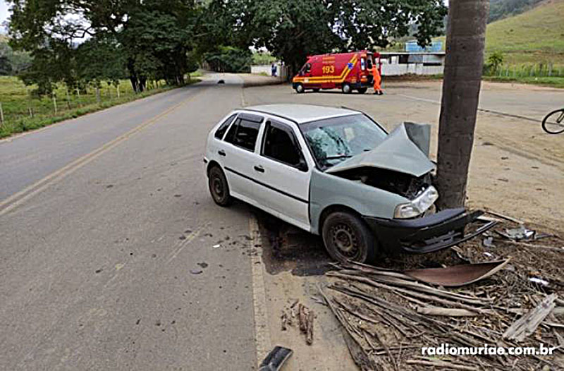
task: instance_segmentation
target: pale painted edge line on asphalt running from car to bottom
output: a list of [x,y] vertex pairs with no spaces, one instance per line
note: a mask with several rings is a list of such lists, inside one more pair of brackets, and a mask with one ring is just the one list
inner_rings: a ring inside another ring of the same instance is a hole
[[270,331],[266,308],[266,292],[264,289],[264,276],[262,268],[262,245],[257,218],[251,214],[249,218],[249,232],[252,244],[257,254],[251,254],[252,274],[252,304],[255,311],[255,342],[257,346],[257,363],[260,363],[270,351]]

